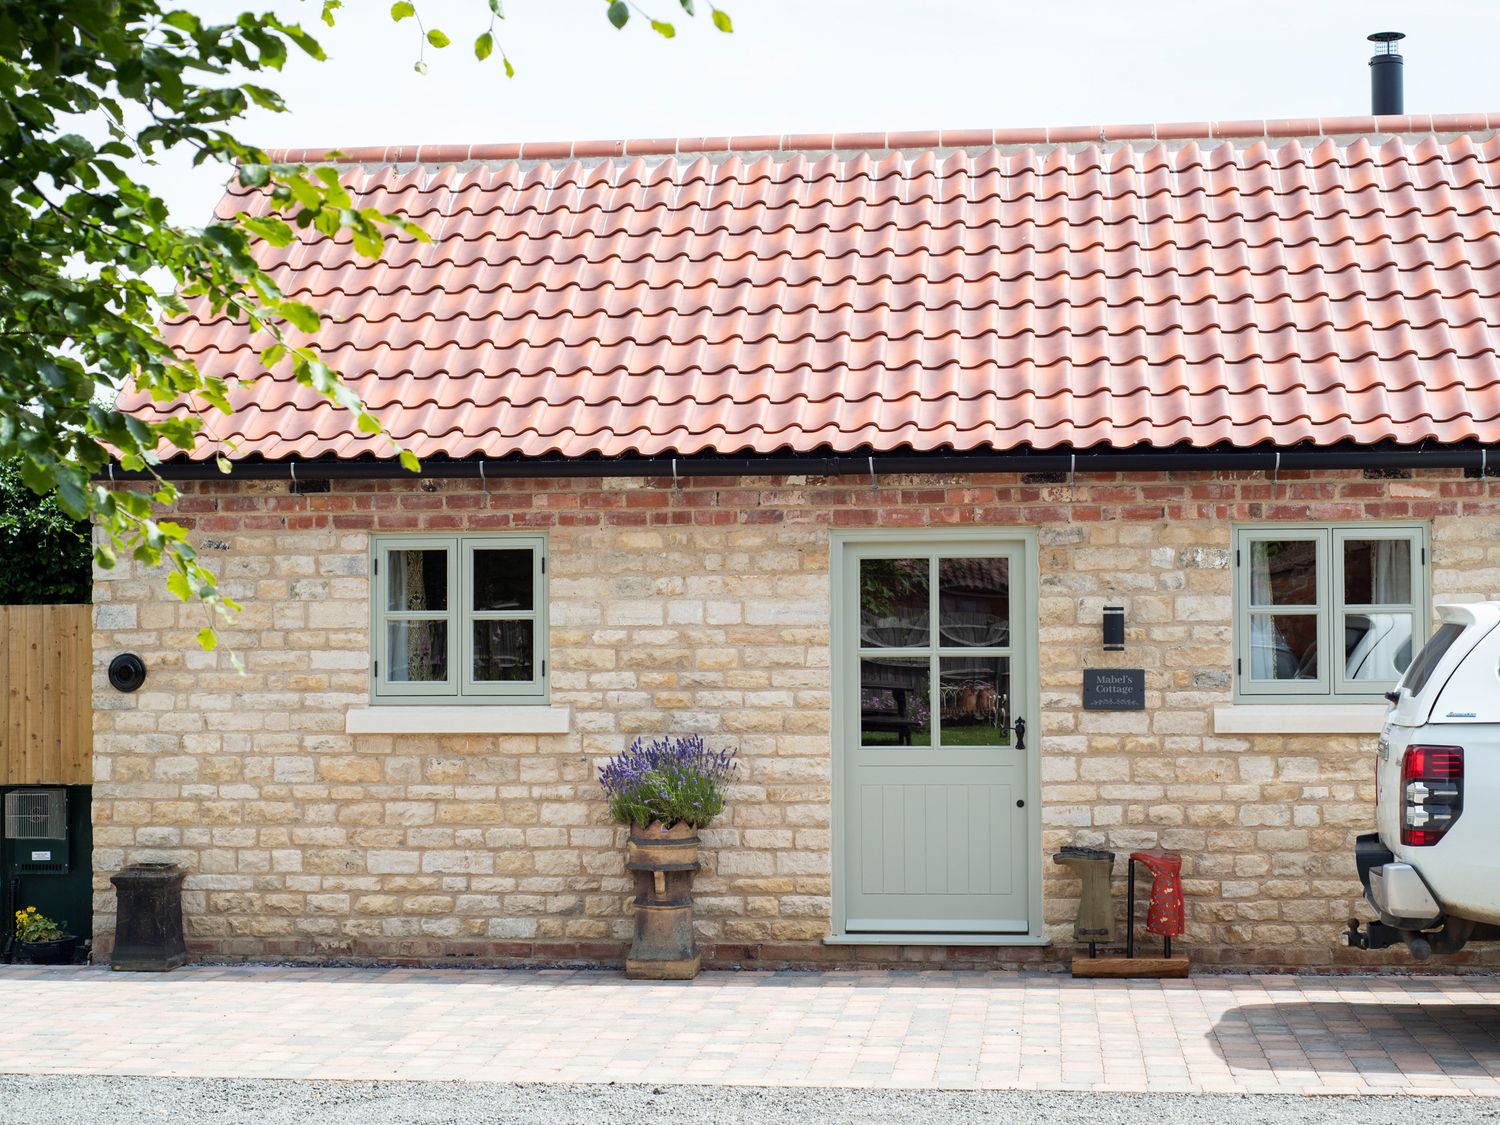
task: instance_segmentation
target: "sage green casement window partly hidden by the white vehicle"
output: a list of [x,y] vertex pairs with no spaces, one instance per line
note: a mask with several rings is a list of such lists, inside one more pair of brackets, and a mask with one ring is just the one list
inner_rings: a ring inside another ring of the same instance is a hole
[[1426,590],[1418,525],[1238,528],[1238,694],[1378,699],[1426,639]]

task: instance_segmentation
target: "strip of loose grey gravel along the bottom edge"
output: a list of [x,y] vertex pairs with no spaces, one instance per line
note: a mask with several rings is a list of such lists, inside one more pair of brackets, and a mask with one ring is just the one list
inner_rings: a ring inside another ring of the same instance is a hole
[[1450,1125],[1500,1122],[1500,1100],[0,1076],[0,1124],[38,1120],[48,1125],[154,1120]]

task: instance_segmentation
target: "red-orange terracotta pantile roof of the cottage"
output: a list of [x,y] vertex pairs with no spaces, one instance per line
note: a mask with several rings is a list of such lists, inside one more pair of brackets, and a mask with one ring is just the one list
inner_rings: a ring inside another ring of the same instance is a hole
[[[1500,140],[1366,135],[1488,120],[393,147],[342,182],[430,244],[256,254],[418,456],[1490,442]],[[165,333],[237,456],[388,453],[242,324]]]

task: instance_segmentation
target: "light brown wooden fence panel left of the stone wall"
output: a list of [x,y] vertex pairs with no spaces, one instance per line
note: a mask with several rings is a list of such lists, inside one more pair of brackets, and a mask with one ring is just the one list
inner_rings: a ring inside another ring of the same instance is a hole
[[0,606],[0,783],[90,784],[90,606]]

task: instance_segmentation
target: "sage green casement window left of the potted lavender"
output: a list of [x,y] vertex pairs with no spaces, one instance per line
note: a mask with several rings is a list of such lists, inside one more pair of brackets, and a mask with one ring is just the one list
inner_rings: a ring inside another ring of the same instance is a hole
[[376,700],[546,702],[542,536],[375,538],[370,570]]

